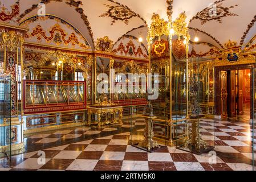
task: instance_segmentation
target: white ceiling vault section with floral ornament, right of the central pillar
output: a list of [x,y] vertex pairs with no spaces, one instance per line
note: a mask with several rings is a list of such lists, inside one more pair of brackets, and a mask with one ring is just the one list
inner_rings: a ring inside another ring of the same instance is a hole
[[256,1],[219,0],[214,2],[214,6],[215,14],[209,13],[210,8],[205,7],[193,16],[189,27],[198,28],[212,35],[220,45],[224,45],[230,39],[237,42],[237,46],[245,47],[243,39],[249,42],[256,31],[255,9],[252,8],[256,6]]

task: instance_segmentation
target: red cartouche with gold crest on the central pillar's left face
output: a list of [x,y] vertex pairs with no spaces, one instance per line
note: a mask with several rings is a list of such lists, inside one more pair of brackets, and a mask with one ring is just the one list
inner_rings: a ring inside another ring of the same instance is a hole
[[152,44],[151,54],[153,57],[168,56],[169,54],[169,43],[166,40],[156,40]]

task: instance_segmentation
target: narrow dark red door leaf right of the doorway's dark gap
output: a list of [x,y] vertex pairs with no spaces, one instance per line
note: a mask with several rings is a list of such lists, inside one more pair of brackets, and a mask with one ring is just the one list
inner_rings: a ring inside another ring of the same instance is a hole
[[230,71],[230,117],[235,115],[235,71]]

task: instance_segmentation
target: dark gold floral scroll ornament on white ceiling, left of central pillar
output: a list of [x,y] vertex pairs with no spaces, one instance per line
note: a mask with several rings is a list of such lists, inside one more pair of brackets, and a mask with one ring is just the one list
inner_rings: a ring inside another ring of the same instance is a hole
[[[105,5],[105,4],[104,4]],[[109,9],[104,14],[100,15],[99,17],[110,17],[112,18],[112,23],[115,23],[116,20],[124,21],[125,24],[129,23],[129,19],[131,19],[134,16],[137,16],[133,11],[131,11],[127,6],[110,6],[105,5]]]

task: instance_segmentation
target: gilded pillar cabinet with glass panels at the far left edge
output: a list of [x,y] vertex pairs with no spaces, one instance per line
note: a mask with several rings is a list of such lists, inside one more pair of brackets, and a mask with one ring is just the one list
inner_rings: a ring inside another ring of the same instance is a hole
[[0,156],[9,159],[24,150],[18,67],[25,32],[25,28],[0,23]]

